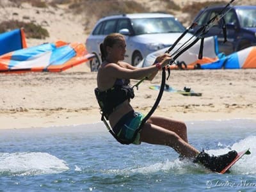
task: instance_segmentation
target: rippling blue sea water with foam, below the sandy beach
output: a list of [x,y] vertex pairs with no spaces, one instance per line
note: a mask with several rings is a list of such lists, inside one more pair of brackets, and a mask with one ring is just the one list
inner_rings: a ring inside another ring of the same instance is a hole
[[0,130],[0,191],[256,191],[256,121],[186,122],[210,154],[250,148],[220,175],[170,147],[121,145],[104,124]]

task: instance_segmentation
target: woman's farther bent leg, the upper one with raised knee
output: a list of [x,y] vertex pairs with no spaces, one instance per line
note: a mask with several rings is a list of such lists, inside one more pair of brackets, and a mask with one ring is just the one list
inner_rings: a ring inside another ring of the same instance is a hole
[[182,140],[188,143],[187,127],[184,122],[179,122],[162,116],[151,116],[147,122],[177,133]]

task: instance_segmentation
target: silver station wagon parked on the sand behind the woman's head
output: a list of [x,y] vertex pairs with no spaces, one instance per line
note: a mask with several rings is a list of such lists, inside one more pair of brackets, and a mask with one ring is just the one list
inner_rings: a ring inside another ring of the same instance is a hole
[[[86,39],[86,49],[95,54],[90,61],[92,71],[100,65],[99,45],[109,33],[125,35],[125,61],[137,65],[149,53],[170,47],[185,30],[173,15],[166,13],[134,13],[113,15],[100,19]],[[184,41],[192,35],[185,36]]]

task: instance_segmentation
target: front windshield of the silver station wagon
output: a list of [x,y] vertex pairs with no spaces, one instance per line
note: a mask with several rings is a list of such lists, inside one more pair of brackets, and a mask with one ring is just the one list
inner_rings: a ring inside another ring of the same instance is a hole
[[135,35],[152,33],[182,33],[185,28],[175,18],[131,19]]

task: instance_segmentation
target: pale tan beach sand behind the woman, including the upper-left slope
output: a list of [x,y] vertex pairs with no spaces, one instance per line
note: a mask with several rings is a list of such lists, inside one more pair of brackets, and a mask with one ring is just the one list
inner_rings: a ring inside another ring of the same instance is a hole
[[[45,24],[49,38],[28,39],[29,47],[56,40],[83,43],[86,40],[81,17],[60,8],[31,8],[29,4],[22,4],[20,8],[0,9],[0,20],[26,18]],[[99,106],[93,92],[96,76],[86,63],[60,73],[0,74],[0,129],[100,122]],[[252,69],[173,70],[167,84],[178,90],[189,86],[191,90],[202,93],[202,97],[164,92],[154,115],[184,121],[256,119],[255,81],[256,70]],[[136,81],[132,81],[134,83]],[[149,86],[160,83],[161,73],[135,90],[136,98],[131,101],[135,110],[147,114],[158,93]]]

